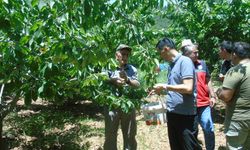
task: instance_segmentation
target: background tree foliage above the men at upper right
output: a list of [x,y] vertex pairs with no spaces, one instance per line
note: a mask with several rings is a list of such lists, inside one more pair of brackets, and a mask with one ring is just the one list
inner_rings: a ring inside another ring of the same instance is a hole
[[168,33],[176,41],[190,38],[199,44],[200,57],[210,67],[218,62],[218,43],[250,42],[250,2],[246,0],[167,0],[163,18],[171,20]]

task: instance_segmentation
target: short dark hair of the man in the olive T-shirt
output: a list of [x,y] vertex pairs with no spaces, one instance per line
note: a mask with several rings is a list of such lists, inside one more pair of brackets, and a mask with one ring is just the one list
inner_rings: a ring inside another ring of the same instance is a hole
[[240,58],[250,58],[250,44],[246,42],[235,42],[233,52]]

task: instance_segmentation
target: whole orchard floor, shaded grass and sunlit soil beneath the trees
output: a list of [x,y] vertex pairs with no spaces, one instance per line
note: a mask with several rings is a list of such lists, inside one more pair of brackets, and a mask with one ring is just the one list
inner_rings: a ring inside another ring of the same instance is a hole
[[[213,109],[216,150],[225,149],[223,134],[224,105],[218,101]],[[138,150],[169,148],[167,125],[147,126],[137,113]],[[102,150],[104,117],[102,108],[90,101],[54,106],[37,100],[31,106],[18,102],[18,108],[4,120],[6,147],[11,150]],[[198,136],[203,149],[203,132]],[[122,133],[118,132],[118,149],[122,150]]]

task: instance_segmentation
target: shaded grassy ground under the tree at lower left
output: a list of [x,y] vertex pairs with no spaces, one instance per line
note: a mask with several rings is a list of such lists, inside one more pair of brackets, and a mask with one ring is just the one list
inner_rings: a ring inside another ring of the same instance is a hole
[[7,149],[23,150],[85,150],[86,136],[103,136],[103,128],[86,124],[100,121],[102,108],[91,102],[62,106],[32,104],[19,105],[4,122]]

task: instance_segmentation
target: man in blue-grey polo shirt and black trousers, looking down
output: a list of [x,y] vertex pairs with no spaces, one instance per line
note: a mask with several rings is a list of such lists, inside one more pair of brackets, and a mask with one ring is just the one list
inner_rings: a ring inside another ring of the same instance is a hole
[[194,137],[196,122],[195,69],[193,62],[175,49],[175,43],[164,38],[156,49],[170,63],[168,84],[156,84],[155,93],[167,92],[168,137],[172,150],[201,149]]

